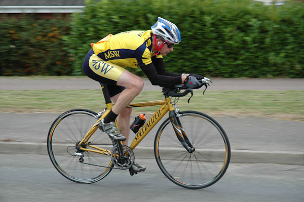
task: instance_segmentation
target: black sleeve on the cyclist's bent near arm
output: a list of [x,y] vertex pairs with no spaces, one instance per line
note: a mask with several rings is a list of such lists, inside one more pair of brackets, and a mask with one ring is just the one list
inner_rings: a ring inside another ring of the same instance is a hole
[[[176,85],[181,84],[181,75],[180,74],[166,74],[163,69],[158,69],[154,66],[154,63],[148,65],[140,66],[142,71],[147,75],[152,85]],[[158,70],[157,70],[158,69]],[[165,74],[161,74],[165,73]]]

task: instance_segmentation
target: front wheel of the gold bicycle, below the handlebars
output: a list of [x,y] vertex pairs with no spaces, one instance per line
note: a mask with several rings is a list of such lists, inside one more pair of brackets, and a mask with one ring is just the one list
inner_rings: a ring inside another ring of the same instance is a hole
[[186,151],[176,137],[170,118],[167,118],[155,136],[157,164],[169,180],[181,187],[201,189],[211,186],[229,166],[229,139],[212,117],[197,111],[179,114],[181,125],[195,151]]

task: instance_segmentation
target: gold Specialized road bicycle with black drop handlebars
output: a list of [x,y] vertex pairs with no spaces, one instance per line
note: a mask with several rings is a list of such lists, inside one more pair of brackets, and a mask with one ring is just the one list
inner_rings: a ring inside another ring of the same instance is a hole
[[[207,89],[206,83],[202,86]],[[225,131],[204,113],[180,111],[176,107],[179,97],[191,93],[189,102],[192,89],[185,85],[163,87],[164,100],[131,103],[128,107],[160,107],[127,146],[121,141],[112,141],[98,129],[100,120],[113,106],[107,86],[101,84],[101,87],[106,104],[103,111],[97,114],[88,109],[68,110],[55,119],[49,130],[49,157],[65,178],[93,183],[106,177],[112,169],[129,169],[131,175],[137,174],[132,170],[133,150],[167,112],[169,117],[159,127],[154,141],[155,158],[163,174],[173,183],[189,189],[208,187],[224,175],[231,158]]]

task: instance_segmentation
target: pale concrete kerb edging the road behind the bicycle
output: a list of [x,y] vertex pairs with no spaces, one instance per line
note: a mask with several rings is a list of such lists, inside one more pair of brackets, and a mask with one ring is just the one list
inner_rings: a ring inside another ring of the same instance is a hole
[[[174,152],[172,149],[170,151]],[[164,153],[170,155],[170,151]],[[0,153],[48,154],[46,143],[23,142],[0,142]],[[137,146],[134,153],[136,158],[155,158],[153,147]],[[218,151],[210,150],[207,153],[214,158]],[[231,153],[231,163],[273,163],[304,166],[304,152],[231,150]]]

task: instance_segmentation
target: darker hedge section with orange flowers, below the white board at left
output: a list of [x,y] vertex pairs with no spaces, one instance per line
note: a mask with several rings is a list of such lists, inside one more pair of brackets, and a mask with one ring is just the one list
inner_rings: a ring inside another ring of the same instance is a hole
[[40,19],[34,14],[1,17],[0,75],[72,73],[72,58],[62,38],[69,34],[68,19]]

